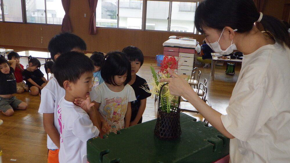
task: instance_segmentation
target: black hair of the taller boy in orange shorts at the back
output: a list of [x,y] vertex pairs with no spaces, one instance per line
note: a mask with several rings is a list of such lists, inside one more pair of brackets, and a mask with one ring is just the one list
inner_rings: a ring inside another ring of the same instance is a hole
[[73,48],[86,50],[87,46],[83,39],[72,33],[65,32],[55,35],[48,43],[48,51],[53,61],[55,61],[54,56],[57,53],[63,54],[71,51]]

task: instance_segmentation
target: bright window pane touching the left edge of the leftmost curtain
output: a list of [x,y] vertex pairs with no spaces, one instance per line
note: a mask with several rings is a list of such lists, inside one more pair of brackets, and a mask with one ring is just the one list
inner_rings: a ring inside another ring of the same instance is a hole
[[46,11],[48,24],[62,24],[65,12],[61,0],[46,0]]

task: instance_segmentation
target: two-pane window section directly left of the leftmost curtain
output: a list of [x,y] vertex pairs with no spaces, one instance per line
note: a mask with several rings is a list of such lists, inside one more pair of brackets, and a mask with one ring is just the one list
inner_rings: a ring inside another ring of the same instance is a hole
[[27,23],[62,24],[61,0],[25,0]]

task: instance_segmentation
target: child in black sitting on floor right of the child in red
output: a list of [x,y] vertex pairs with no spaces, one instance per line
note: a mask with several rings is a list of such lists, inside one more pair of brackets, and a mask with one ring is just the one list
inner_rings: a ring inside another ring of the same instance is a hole
[[29,87],[30,95],[33,96],[38,95],[39,91],[47,84],[44,74],[38,69],[39,67],[39,60],[32,58],[28,61],[28,68],[22,72],[22,77]]

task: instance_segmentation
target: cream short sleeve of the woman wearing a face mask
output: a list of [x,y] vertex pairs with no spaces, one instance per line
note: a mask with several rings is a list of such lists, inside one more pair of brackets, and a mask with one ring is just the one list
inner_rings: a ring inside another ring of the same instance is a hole
[[227,115],[221,115],[221,121],[230,134],[246,141],[277,112],[261,86],[239,82],[238,87],[240,89],[233,92]]

